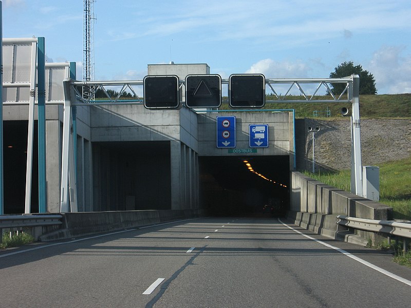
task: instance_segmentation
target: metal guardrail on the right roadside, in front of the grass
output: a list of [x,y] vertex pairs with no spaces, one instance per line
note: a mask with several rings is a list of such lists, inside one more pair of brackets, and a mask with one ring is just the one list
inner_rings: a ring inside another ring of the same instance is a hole
[[404,251],[407,251],[408,240],[411,238],[411,223],[386,221],[386,220],[372,220],[357,217],[348,217],[338,215],[338,224],[351,227],[354,229],[361,229],[369,232],[384,233],[387,235],[398,236],[403,239]]

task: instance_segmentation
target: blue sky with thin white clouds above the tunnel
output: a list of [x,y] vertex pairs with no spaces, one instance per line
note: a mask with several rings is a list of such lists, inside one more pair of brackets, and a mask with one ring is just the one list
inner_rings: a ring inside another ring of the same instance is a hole
[[[83,0],[3,0],[3,37],[44,36],[48,62],[77,62]],[[148,64],[211,73],[328,78],[362,65],[378,94],[411,93],[409,0],[96,0],[95,80],[142,80]],[[361,81],[360,81],[361,83]]]

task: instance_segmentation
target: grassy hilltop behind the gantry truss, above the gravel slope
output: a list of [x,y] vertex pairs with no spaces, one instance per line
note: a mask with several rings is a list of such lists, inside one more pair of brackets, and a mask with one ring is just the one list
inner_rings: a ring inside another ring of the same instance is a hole
[[[315,100],[329,99],[329,96],[316,96]],[[288,100],[302,100],[303,97],[290,96]],[[267,96],[267,101],[273,97]],[[225,100],[227,102],[227,100]],[[281,103],[266,102],[264,109],[294,109],[296,118],[313,118],[313,111],[331,111],[331,118],[340,118],[342,107],[351,109],[350,104],[344,103]],[[230,109],[228,103],[223,103],[219,109]],[[247,108],[244,108],[247,109]],[[361,118],[411,118],[411,93],[360,95]]]

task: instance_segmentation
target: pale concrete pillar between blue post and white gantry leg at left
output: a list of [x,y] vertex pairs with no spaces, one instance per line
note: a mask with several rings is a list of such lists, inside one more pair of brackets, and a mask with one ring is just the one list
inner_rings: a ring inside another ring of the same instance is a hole
[[46,183],[48,213],[60,212],[61,124],[59,120],[46,121]]

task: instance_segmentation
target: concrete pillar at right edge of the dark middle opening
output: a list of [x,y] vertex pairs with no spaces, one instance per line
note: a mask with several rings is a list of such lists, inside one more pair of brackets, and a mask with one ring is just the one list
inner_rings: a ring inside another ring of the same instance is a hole
[[181,142],[170,141],[171,209],[181,209]]

